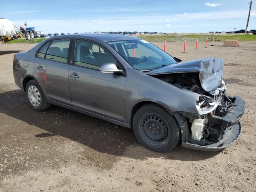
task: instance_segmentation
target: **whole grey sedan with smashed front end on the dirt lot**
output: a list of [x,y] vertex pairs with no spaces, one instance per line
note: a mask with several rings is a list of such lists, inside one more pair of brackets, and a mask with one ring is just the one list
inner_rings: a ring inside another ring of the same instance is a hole
[[182,62],[132,36],[80,34],[16,53],[13,74],[36,111],[54,104],[132,128],[158,152],[180,140],[215,151],[238,139],[244,112],[244,100],[226,94],[223,66],[222,58]]

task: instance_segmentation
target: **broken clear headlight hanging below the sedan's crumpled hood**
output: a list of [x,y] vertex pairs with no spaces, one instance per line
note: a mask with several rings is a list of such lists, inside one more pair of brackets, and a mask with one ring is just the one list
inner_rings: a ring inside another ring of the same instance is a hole
[[218,103],[207,96],[200,95],[196,100],[196,109],[198,110],[199,115],[204,115],[212,112],[218,106]]

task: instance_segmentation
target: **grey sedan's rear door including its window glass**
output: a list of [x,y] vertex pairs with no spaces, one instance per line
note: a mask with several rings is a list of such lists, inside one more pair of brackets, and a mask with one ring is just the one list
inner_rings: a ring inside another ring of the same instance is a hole
[[44,44],[37,52],[34,66],[48,98],[71,104],[68,82],[71,39],[57,39]]

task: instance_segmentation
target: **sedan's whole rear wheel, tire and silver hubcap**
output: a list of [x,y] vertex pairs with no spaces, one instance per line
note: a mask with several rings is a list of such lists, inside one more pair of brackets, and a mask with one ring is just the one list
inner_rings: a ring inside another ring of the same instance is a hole
[[43,111],[50,107],[36,80],[30,80],[26,85],[26,98],[30,106],[36,111]]

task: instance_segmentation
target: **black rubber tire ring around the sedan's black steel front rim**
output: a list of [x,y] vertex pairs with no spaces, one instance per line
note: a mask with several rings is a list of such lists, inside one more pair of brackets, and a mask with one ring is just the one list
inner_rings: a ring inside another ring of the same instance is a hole
[[[139,126],[141,124],[142,119],[146,115],[158,116],[165,122],[168,128],[168,136],[164,144],[162,145],[151,144],[142,136]],[[180,142],[180,128],[178,126],[178,123],[175,117],[170,115],[170,113],[168,113],[165,109],[163,109],[160,106],[157,106],[157,105],[142,106],[134,115],[132,124],[133,124],[134,134],[138,139],[138,141],[140,142],[140,144],[142,144],[146,148],[149,148],[150,150],[154,150],[157,152],[167,152],[172,150]]]

